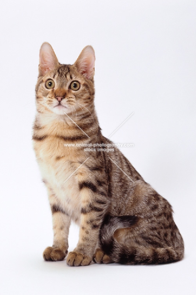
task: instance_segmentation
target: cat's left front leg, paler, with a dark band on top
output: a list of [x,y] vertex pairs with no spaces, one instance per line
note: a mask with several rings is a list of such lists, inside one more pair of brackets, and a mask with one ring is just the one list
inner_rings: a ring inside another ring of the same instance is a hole
[[44,250],[43,258],[46,261],[61,261],[68,252],[68,235],[71,219],[57,204],[52,204],[51,210],[54,240],[52,247],[47,247]]

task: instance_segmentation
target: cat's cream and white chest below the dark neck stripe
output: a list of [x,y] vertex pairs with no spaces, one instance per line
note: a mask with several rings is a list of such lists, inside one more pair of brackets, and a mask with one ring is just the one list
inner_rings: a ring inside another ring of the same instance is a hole
[[86,160],[84,149],[65,146],[64,142],[61,138],[49,136],[34,141],[34,150],[42,178],[52,189],[57,202],[76,221],[82,207],[79,182],[88,178],[89,171],[85,165],[81,166]]

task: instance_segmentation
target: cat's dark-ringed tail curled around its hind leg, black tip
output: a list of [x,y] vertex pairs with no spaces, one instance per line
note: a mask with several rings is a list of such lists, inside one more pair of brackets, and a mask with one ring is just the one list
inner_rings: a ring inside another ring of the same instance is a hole
[[[109,255],[111,262],[120,264],[161,264],[179,261],[184,257],[184,245],[181,247],[155,248],[133,243],[120,243],[114,238],[117,229],[132,227],[137,216],[106,216],[99,233],[102,250]],[[183,242],[182,242],[183,244]]]

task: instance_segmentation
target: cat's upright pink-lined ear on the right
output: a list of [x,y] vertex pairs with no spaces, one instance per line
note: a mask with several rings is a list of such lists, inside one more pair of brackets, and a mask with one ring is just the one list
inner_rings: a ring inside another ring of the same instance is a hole
[[92,46],[84,47],[74,65],[77,70],[87,79],[92,79],[94,76],[95,54]]

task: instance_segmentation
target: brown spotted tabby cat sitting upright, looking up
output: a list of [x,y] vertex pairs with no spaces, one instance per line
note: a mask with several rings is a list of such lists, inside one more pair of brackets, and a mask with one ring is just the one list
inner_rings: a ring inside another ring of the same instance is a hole
[[49,43],[41,45],[33,143],[54,230],[44,260],[65,258],[71,220],[79,225],[79,241],[67,255],[69,266],[92,260],[122,264],[181,260],[184,243],[171,205],[117,148],[107,153],[66,146],[112,143],[102,135],[94,109],[94,63],[91,46],[73,65],[65,65]]

